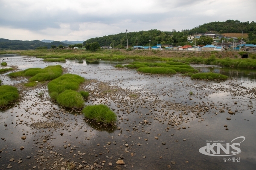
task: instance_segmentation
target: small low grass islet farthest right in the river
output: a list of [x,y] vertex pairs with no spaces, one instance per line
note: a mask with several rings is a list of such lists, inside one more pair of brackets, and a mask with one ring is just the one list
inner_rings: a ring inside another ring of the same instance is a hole
[[207,73],[197,73],[191,76],[192,79],[200,79],[200,80],[227,80],[226,75],[221,75],[218,73],[212,73],[212,72],[207,72]]

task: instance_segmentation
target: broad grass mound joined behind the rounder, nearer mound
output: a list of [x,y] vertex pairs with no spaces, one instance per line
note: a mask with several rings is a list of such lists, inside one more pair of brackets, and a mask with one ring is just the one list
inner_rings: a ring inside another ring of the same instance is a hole
[[64,74],[52,80],[48,84],[49,94],[57,92],[60,94],[65,90],[77,90],[79,85],[84,82],[84,78],[79,75]]

